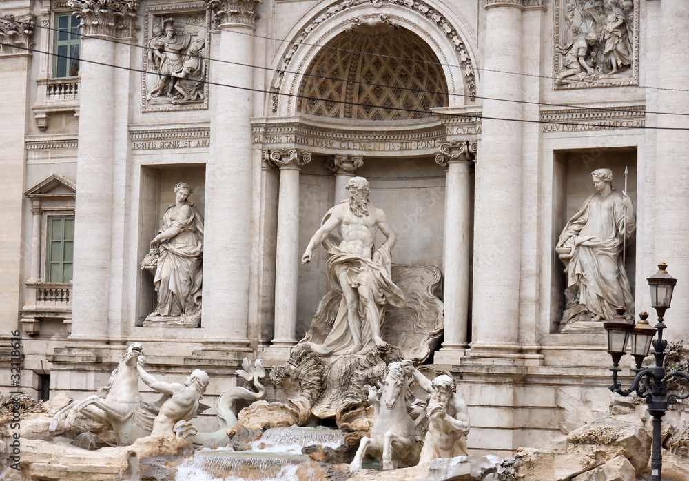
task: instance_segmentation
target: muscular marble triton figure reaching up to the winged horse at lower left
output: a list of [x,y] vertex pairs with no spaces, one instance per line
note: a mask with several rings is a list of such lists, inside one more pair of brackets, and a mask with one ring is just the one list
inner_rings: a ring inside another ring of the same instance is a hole
[[188,421],[196,418],[200,413],[208,409],[201,401],[203,393],[208,386],[209,378],[207,373],[200,369],[194,369],[190,376],[187,376],[184,384],[179,382],[165,382],[156,380],[154,376],[143,369],[145,358],[139,356],[136,363],[141,380],[148,387],[167,396],[161,406],[158,416],[153,422],[151,436],[161,436],[174,432],[175,424],[181,420]]

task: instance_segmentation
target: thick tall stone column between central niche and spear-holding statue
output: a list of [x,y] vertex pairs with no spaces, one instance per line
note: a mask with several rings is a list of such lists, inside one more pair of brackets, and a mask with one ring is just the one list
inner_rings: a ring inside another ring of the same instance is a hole
[[486,1],[485,39],[487,99],[475,180],[471,355],[509,358],[518,349],[520,306],[521,0]]

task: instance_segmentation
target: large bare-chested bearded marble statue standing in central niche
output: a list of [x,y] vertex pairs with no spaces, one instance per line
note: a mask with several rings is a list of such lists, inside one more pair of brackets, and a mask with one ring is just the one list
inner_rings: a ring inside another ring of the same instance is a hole
[[[341,292],[340,307],[325,342],[313,345],[321,354],[366,354],[382,346],[380,337],[386,305],[406,307],[404,294],[391,280],[390,251],[395,234],[385,213],[369,204],[369,183],[353,177],[349,201],[330,209],[302,257],[308,263],[320,243],[327,249],[327,271],[333,289]],[[335,234],[339,228],[339,235]],[[386,241],[373,249],[376,231]]]

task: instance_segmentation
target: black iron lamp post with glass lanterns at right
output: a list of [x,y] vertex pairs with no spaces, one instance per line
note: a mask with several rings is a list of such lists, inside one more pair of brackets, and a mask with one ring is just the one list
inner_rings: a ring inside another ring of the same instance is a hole
[[[689,398],[689,391],[683,395],[679,393],[670,393],[666,391],[666,382],[670,378],[684,378],[689,381],[689,374],[683,371],[672,371],[666,374],[663,361],[665,359],[665,348],[668,341],[663,339],[663,316],[665,311],[670,309],[670,300],[672,300],[672,291],[675,289],[677,279],[670,276],[666,268],[668,265],[661,263],[658,265],[659,271],[648,278],[648,285],[650,286],[651,306],[658,314],[658,323],[655,329],[648,325],[648,314],[642,312],[639,314],[641,318],[636,326],[627,323],[624,318],[624,308],[617,308],[617,315],[613,320],[604,323],[604,327],[608,334],[608,353],[613,357],[613,385],[610,386],[610,391],[619,394],[620,396],[629,396],[636,392],[639,398],[646,400],[648,405],[648,412],[653,416],[653,447],[651,452],[651,480],[661,481],[663,456],[661,453],[661,423],[662,418],[668,410],[668,405],[674,405],[678,399]],[[653,340],[655,333],[658,333],[658,338]],[[617,381],[617,373],[619,369],[619,360],[626,353],[627,342],[631,338],[631,354],[635,358],[637,373],[632,385],[629,389],[621,389],[621,384]],[[655,367],[652,369],[641,369],[641,362],[650,349],[651,340],[653,341],[653,349],[655,349]]]

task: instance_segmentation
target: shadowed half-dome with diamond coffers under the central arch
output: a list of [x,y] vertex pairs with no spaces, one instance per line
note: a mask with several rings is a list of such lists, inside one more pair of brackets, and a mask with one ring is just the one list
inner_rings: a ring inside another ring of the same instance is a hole
[[402,120],[429,117],[431,108],[447,105],[442,65],[422,39],[401,27],[364,26],[342,32],[318,52],[301,84],[300,112]]

